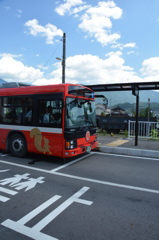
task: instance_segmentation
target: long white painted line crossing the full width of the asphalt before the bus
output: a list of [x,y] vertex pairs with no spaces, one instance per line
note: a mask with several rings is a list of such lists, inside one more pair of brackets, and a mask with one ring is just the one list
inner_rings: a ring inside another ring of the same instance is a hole
[[60,173],[60,172],[57,172],[57,171],[56,172],[55,171],[51,172],[49,170],[38,169],[38,168],[35,168],[35,167],[28,167],[28,166],[24,166],[24,165],[20,165],[20,164],[5,162],[5,161],[2,161],[2,160],[0,160],[0,162],[8,164],[8,165],[18,166],[18,167],[27,168],[27,169],[29,168],[31,170],[35,170],[35,171],[38,171],[38,172],[45,172],[45,173],[49,173],[49,174],[53,174],[53,175],[57,175],[57,176],[62,176],[62,177],[66,177],[66,178],[72,178],[72,179],[76,179],[76,180],[80,180],[80,181],[87,181],[87,182],[90,182],[90,183],[97,183],[97,184],[102,184],[102,185],[107,185],[107,186],[112,186],[112,187],[125,188],[125,189],[129,189],[129,190],[136,190],[136,191],[141,191],[141,192],[149,192],[149,193],[159,194],[159,190],[155,190],[155,189],[135,187],[135,186],[131,186],[131,185],[124,185],[124,184],[118,184],[118,183],[113,183],[113,182],[101,181],[101,180],[97,180],[97,179],[79,177],[79,176],[75,176],[75,175]]

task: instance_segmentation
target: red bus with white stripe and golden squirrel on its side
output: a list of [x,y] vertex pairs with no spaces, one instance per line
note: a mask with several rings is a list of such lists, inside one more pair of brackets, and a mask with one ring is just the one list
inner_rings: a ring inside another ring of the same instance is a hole
[[0,88],[0,149],[63,158],[97,147],[94,93],[76,84]]

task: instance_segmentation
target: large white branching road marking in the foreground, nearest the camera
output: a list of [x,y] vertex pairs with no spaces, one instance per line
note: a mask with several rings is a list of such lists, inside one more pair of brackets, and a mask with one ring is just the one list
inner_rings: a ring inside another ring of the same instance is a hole
[[52,203],[57,201],[61,196],[55,195],[50,198],[48,201],[44,202],[42,205],[34,209],[32,212],[21,218],[20,220],[12,221],[10,219],[5,220],[1,224],[7,228],[10,228],[18,233],[26,235],[32,239],[36,240],[57,240],[57,238],[51,237],[45,233],[42,233],[41,230],[45,228],[50,222],[52,222],[57,216],[59,216],[64,210],[66,210],[71,204],[74,202],[91,205],[92,201],[87,201],[85,199],[80,199],[80,197],[88,191],[89,187],[83,187],[78,192],[73,194],[70,198],[68,198],[65,202],[59,205],[56,209],[50,212],[46,217],[44,217],[41,221],[35,224],[32,228],[25,226],[28,221],[37,216],[40,212],[45,210]]

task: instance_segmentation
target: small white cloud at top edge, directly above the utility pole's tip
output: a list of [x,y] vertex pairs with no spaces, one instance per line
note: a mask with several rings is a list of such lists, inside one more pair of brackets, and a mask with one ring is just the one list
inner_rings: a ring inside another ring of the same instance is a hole
[[67,12],[69,12],[70,14],[75,14],[87,8],[87,6],[76,7],[83,4],[85,4],[85,2],[83,2],[82,0],[66,0],[65,3],[60,4],[57,8],[55,8],[55,11],[61,16],[64,16]]

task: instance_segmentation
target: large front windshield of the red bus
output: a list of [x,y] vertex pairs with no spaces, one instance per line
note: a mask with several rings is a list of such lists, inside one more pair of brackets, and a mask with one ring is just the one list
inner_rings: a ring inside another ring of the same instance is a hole
[[80,98],[66,99],[66,128],[96,127],[95,102]]

